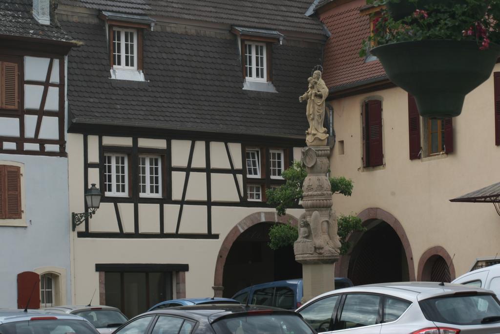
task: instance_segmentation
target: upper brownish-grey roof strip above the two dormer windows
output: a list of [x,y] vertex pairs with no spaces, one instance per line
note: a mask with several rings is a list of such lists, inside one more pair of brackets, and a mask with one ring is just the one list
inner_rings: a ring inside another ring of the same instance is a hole
[[312,2],[313,0],[60,0],[63,5],[97,10],[324,36],[317,19],[304,15]]

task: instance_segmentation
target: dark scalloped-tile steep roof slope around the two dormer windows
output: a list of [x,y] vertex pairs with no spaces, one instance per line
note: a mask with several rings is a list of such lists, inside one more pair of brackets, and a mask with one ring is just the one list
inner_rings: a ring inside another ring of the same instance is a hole
[[298,96],[321,57],[320,48],[275,44],[273,84],[279,93],[242,89],[232,38],[145,31],[148,82],[109,79],[104,24],[61,22],[83,45],[68,58],[70,118],[99,123],[223,133],[303,136],[305,105]]

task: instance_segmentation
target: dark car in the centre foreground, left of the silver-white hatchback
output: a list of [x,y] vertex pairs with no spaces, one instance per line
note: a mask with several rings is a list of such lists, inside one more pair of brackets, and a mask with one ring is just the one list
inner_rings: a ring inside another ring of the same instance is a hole
[[139,314],[113,334],[315,334],[293,311],[244,304],[163,308]]

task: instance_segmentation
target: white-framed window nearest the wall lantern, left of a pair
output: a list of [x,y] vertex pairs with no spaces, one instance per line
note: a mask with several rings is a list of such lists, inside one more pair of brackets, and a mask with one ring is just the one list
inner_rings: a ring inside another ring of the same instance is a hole
[[125,154],[104,154],[104,195],[128,196],[128,163]]

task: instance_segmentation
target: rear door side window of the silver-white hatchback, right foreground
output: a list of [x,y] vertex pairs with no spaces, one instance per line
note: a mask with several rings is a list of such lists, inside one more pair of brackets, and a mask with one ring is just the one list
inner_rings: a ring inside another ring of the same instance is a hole
[[339,329],[369,326],[377,323],[380,296],[347,294],[340,314]]

